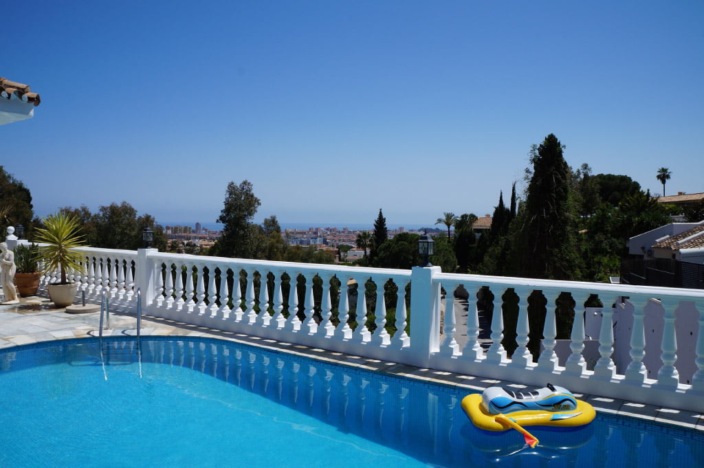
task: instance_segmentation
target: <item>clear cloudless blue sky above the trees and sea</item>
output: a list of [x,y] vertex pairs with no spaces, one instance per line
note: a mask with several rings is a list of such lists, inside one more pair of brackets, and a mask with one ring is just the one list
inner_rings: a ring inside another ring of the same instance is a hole
[[702,192],[703,24],[700,0],[25,1],[0,76],[42,104],[0,164],[40,216],[210,223],[249,179],[258,222],[432,224],[491,213],[554,133],[572,167]]

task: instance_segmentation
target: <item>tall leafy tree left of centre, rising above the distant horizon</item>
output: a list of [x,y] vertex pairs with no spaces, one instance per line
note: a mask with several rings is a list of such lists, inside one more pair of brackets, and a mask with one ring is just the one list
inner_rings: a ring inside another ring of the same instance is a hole
[[248,180],[239,185],[227,184],[225,202],[216,220],[222,224],[222,236],[218,239],[214,255],[235,258],[253,258],[256,250],[256,230],[251,228],[252,219],[261,201],[254,195]]

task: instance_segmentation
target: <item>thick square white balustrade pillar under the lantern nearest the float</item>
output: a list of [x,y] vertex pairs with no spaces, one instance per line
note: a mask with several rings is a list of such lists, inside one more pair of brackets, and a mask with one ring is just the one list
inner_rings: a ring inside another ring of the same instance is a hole
[[409,364],[427,367],[439,348],[440,283],[433,282],[440,267],[413,267],[410,274]]

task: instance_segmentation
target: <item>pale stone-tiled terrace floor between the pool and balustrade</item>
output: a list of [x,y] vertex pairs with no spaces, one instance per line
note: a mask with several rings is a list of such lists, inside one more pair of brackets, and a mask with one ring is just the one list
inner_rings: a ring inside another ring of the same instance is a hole
[[[136,333],[137,320],[134,315],[113,313],[110,320],[111,329],[104,330],[103,336],[134,335]],[[0,349],[37,343],[39,341],[98,336],[99,322],[99,312],[71,314],[67,313],[65,309],[54,308],[54,305],[45,298],[22,298],[19,305],[0,305]],[[493,385],[512,386],[516,389],[525,388],[525,386],[513,382],[484,379],[453,372],[439,372],[434,369],[420,369],[394,362],[360,358],[359,356],[345,355],[319,348],[309,348],[307,346],[261,339],[255,336],[197,327],[156,317],[142,318],[142,335],[208,336],[237,341],[288,353],[306,355],[318,360],[329,360],[353,367],[361,367],[375,372],[458,386],[466,388],[467,393],[482,391],[484,388]],[[572,390],[574,391],[574,389]],[[650,419],[704,431],[704,416],[694,412],[574,393],[578,398],[591,403],[598,412]]]

